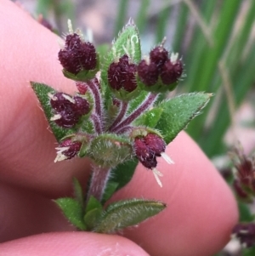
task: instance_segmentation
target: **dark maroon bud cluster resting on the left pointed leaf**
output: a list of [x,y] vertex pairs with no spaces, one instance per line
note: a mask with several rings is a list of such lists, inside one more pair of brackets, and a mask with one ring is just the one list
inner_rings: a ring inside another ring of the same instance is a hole
[[59,127],[72,128],[83,115],[90,111],[88,100],[74,96],[73,98],[64,93],[49,94],[50,105],[54,109],[54,121]]

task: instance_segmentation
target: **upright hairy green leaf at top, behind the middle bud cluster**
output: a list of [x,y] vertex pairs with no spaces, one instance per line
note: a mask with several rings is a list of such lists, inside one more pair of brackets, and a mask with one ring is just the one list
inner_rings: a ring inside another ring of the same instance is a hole
[[110,52],[106,56],[105,65],[101,72],[101,77],[106,85],[108,84],[107,70],[109,65],[124,54],[127,54],[135,64],[138,64],[141,60],[139,32],[133,24],[133,20],[129,20],[122,32],[119,33],[116,40],[112,43]]

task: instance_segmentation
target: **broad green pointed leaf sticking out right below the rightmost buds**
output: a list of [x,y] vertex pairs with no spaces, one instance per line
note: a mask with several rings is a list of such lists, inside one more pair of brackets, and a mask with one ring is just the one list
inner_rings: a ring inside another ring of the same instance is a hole
[[188,123],[201,113],[212,94],[182,94],[158,105],[163,109],[156,128],[161,131],[166,143],[171,142]]

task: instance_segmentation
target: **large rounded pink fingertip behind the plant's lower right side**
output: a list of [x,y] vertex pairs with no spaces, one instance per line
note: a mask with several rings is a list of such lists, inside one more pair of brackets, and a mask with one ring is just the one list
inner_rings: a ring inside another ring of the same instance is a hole
[[181,133],[167,147],[173,165],[160,160],[163,187],[139,166],[132,181],[112,198],[146,198],[167,203],[167,209],[125,236],[150,255],[205,256],[229,241],[237,222],[235,198],[207,156]]

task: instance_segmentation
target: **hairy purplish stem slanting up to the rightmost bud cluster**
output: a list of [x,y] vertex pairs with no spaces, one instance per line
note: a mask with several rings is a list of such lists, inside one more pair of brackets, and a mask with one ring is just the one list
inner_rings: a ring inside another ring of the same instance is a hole
[[156,94],[149,94],[149,96],[144,100],[142,105],[139,105],[139,107],[133,111],[131,115],[129,115],[126,119],[124,119],[121,123],[119,123],[115,128],[112,128],[111,132],[116,132],[127,125],[129,125],[131,122],[133,122],[137,117],[139,117],[144,111],[146,111],[150,105],[153,105],[157,98]]

